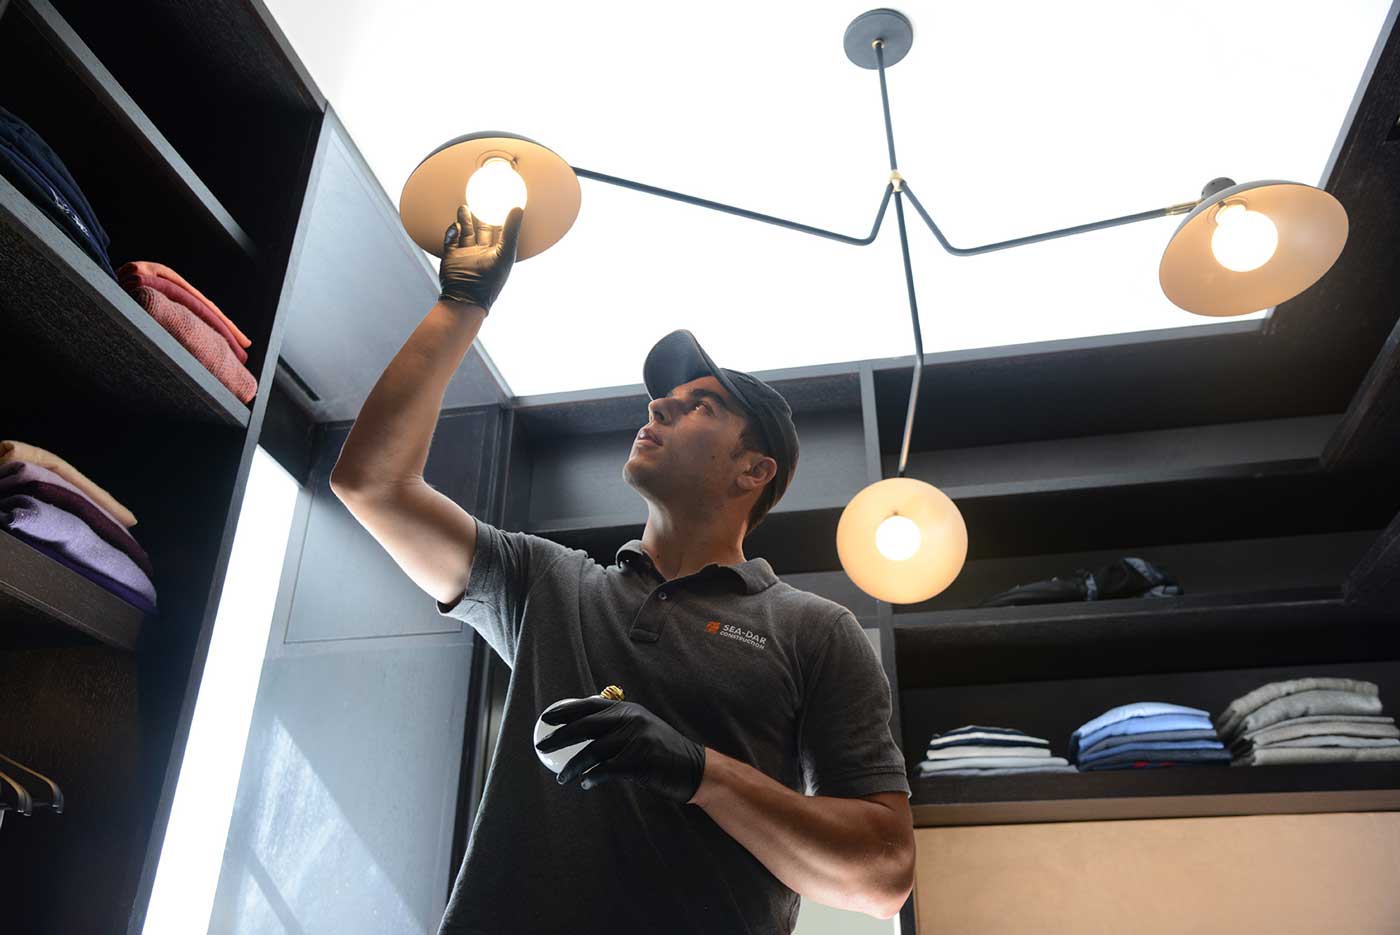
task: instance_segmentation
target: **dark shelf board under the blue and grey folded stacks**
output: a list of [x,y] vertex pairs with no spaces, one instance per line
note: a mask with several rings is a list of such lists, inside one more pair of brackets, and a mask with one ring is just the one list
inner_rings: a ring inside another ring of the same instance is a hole
[[910,785],[916,827],[1400,810],[1400,763],[944,777]]

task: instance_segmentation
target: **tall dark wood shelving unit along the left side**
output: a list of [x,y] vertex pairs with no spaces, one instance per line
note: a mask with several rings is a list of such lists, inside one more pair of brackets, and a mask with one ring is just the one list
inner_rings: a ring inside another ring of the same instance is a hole
[[0,435],[67,459],[141,518],[160,606],[147,616],[0,533],[0,708],[14,714],[0,752],[52,774],[70,802],[6,822],[6,924],[136,935],[290,316],[326,102],[258,0],[0,0],[0,106],[63,161],[111,265],[154,260],[195,283],[252,342],[244,365],[259,384],[239,402],[0,178]]

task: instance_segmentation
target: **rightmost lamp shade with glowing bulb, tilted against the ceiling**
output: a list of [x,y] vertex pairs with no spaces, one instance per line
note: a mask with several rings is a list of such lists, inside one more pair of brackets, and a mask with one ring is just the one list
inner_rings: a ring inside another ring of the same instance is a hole
[[1327,192],[1298,182],[1245,182],[1215,192],[1186,216],[1162,253],[1158,279],[1166,297],[1189,312],[1247,315],[1316,283],[1345,242],[1347,211]]

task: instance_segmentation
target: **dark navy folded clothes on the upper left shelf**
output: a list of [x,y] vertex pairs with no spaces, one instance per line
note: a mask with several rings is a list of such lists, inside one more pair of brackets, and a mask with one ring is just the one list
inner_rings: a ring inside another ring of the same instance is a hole
[[116,277],[106,256],[112,241],[97,223],[83,189],[43,137],[4,108],[0,108],[0,175],[34,202],[108,276]]

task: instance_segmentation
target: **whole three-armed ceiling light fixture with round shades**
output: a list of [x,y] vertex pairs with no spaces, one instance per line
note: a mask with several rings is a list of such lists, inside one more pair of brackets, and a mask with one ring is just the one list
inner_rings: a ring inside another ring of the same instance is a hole
[[[528,203],[517,259],[557,242],[578,216],[578,179],[631,189],[644,195],[773,224],[801,234],[867,246],[879,234],[895,202],[904,283],[914,330],[914,372],[895,477],[865,487],[851,498],[837,523],[836,546],[851,579],[879,600],[917,603],[932,598],[958,577],[967,556],[967,528],[956,504],[937,487],[904,476],[909,445],[924,374],[924,343],[914,297],[914,273],[904,228],[904,199],[953,256],[977,256],[1014,246],[1184,214],[1166,245],[1158,269],[1162,291],[1177,307],[1197,315],[1226,316],[1271,308],[1316,283],[1347,242],[1347,213],[1327,192],[1299,182],[1214,179],[1200,200],[1078,224],[979,246],[955,246],[914,196],[895,160],[895,130],[885,70],[903,59],[914,42],[914,27],[897,10],[871,10],[846,28],[846,57],[879,73],[889,176],[865,237],[837,234],[770,214],[661,189],[641,182],[570,167],[543,146],[511,133],[470,133],[444,143],[413,171],[399,199],[399,214],[413,241],[441,256],[442,232],[466,200],[486,224],[504,218],[500,204]],[[515,178],[511,178],[511,176]],[[472,179],[477,178],[477,185]],[[518,179],[518,181],[517,181]],[[482,195],[477,195],[477,192]],[[490,195],[486,195],[490,192]],[[477,199],[496,204],[480,204]]]

